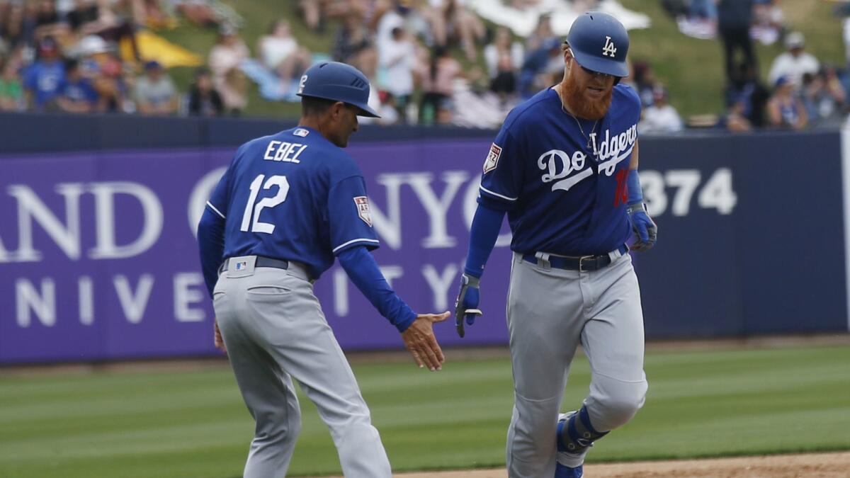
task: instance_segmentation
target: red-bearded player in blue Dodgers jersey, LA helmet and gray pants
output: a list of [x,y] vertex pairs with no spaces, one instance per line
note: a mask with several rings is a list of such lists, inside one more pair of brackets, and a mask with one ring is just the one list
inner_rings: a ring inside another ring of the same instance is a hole
[[[513,264],[507,325],[514,407],[512,478],[577,478],[587,450],[643,406],[643,311],[632,250],[655,244],[638,179],[640,100],[629,38],[609,14],[581,15],[564,42],[564,80],[507,116],[484,162],[456,304],[457,331],[479,310],[479,280],[507,220]],[[590,394],[558,414],[581,344]],[[578,405],[578,404],[576,404]],[[574,406],[575,407],[575,406]]]

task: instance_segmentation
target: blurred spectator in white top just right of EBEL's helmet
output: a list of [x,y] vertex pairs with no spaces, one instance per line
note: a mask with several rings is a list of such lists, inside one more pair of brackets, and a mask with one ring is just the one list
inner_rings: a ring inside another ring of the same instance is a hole
[[393,29],[393,37],[382,43],[378,50],[378,65],[384,71],[381,89],[392,95],[399,120],[405,122],[407,105],[413,94],[413,67],[416,49],[408,34],[400,27]]

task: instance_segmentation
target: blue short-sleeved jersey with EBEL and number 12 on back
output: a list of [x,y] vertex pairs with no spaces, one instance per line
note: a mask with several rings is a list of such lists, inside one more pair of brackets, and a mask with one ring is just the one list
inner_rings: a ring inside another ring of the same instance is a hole
[[312,128],[241,145],[207,208],[225,219],[225,259],[294,260],[317,279],[345,249],[378,247],[360,168]]

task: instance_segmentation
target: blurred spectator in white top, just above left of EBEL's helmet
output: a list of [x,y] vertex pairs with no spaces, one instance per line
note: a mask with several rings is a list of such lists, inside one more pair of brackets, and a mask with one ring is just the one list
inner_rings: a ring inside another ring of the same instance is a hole
[[310,52],[298,46],[289,31],[289,22],[283,19],[273,22],[266,35],[260,37],[257,52],[263,65],[286,84],[293,77],[301,77],[311,61]]

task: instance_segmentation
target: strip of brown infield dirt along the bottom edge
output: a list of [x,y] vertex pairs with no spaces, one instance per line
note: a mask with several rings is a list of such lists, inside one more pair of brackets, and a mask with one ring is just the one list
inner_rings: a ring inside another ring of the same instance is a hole
[[[398,478],[506,478],[504,469],[432,471]],[[846,478],[850,452],[588,464],[587,478]]]

